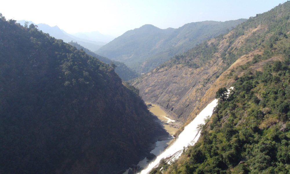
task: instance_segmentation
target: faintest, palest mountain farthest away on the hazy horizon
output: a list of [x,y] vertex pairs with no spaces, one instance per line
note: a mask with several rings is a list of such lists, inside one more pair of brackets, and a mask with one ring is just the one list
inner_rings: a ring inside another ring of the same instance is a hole
[[93,31],[93,32],[78,32],[78,33],[73,33],[72,35],[81,38],[81,39],[87,39],[87,40],[93,40],[93,41],[101,41],[108,43],[115,39],[115,37],[110,36],[110,35],[103,35],[102,33],[98,31]]

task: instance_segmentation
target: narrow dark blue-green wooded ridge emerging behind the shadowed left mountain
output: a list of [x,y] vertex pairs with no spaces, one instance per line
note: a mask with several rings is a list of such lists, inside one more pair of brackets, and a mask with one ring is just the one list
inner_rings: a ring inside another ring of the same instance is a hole
[[127,80],[134,79],[134,78],[138,77],[138,74],[135,71],[133,71],[130,68],[128,68],[122,62],[110,60],[107,57],[103,57],[103,56],[97,55],[96,53],[91,52],[90,50],[84,48],[83,46],[77,44],[76,42],[69,42],[68,44],[76,47],[79,50],[83,49],[84,52],[86,52],[88,55],[96,57],[97,59],[99,59],[100,61],[102,61],[102,62],[104,62],[106,64],[110,64],[110,65],[114,64],[114,65],[116,65],[115,72],[119,75],[119,77],[122,80],[127,81]]

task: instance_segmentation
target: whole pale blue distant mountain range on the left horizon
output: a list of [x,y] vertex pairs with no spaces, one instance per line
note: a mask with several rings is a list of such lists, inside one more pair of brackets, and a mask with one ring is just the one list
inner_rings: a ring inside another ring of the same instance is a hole
[[[17,21],[22,26],[26,20]],[[32,21],[27,21],[30,25]],[[45,33],[48,33],[50,36],[55,37],[56,39],[62,39],[64,42],[74,41],[89,50],[95,51],[98,50],[101,46],[108,43],[110,40],[113,40],[112,36],[102,35],[99,32],[88,32],[88,33],[76,33],[75,35],[68,34],[64,30],[61,30],[58,26],[51,27],[45,23],[35,24],[39,30],[42,30]]]

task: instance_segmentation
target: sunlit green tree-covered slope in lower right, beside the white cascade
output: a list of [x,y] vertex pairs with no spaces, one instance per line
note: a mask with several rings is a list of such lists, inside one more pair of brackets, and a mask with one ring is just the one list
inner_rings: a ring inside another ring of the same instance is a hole
[[211,120],[179,160],[151,173],[289,173],[290,59],[240,77],[228,98],[217,93]]

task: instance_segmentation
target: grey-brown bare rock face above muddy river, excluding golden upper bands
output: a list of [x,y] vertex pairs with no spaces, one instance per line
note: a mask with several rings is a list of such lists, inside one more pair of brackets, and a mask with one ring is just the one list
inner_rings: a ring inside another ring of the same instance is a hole
[[133,85],[145,101],[158,103],[171,110],[176,119],[182,119],[191,113],[206,89],[216,80],[215,74],[221,67],[221,59],[216,59],[197,69],[182,65],[162,68],[148,73]]

